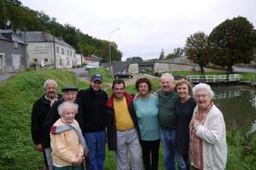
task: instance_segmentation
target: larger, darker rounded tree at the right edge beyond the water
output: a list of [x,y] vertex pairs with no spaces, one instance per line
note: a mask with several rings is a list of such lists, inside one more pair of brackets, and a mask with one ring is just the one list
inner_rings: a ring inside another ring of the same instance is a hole
[[232,65],[248,64],[253,59],[256,47],[256,33],[253,24],[238,16],[225,20],[215,27],[208,38],[212,49],[211,62],[227,68],[232,73]]

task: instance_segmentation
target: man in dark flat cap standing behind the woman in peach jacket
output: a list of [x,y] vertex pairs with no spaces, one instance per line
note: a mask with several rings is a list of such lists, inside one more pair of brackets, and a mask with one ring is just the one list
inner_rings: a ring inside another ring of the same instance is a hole
[[54,105],[49,110],[49,114],[45,119],[44,126],[43,126],[43,146],[45,150],[45,155],[47,157],[49,169],[53,169],[53,161],[51,157],[51,148],[50,148],[50,139],[49,139],[49,132],[52,125],[60,118],[58,113],[58,106],[61,105],[64,101],[73,101],[74,103],[79,105],[78,114],[76,114],[75,119],[79,122],[79,126],[83,127],[83,110],[81,106],[80,99],[77,98],[77,94],[79,88],[73,86],[67,86],[61,88],[62,97],[58,99]]

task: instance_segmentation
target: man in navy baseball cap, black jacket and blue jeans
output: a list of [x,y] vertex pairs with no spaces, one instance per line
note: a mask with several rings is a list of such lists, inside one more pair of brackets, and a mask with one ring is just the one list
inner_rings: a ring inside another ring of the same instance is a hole
[[101,89],[102,75],[91,77],[90,88],[79,90],[84,117],[84,139],[90,150],[85,158],[87,170],[103,170],[106,145],[106,103],[108,94]]

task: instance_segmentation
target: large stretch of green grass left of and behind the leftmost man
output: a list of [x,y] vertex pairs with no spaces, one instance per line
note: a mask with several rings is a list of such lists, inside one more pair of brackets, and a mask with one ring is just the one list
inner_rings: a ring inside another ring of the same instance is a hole
[[58,92],[68,84],[78,85],[69,71],[27,71],[0,83],[0,169],[42,169],[41,153],[32,144],[32,105],[44,93],[44,81],[53,78]]

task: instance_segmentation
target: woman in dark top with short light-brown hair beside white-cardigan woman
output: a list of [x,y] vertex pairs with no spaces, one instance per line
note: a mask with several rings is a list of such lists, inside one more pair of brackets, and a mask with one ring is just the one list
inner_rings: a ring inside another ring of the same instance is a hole
[[179,95],[175,105],[177,114],[177,131],[174,141],[175,156],[178,169],[189,169],[189,122],[195,108],[195,99],[191,97],[192,85],[189,81],[180,79],[176,83],[176,91]]

